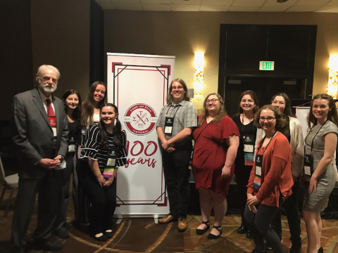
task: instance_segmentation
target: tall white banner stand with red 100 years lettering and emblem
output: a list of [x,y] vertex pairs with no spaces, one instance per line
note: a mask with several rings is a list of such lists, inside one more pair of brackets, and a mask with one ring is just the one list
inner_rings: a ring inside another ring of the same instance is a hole
[[174,77],[175,56],[107,53],[108,102],[127,132],[128,164],[118,170],[115,216],[169,213],[156,122]]

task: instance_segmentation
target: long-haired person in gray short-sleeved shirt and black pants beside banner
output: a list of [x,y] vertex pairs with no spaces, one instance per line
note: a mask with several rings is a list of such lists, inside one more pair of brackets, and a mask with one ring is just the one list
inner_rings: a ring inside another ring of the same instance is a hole
[[171,82],[167,104],[157,121],[157,135],[162,145],[165,184],[170,214],[158,220],[165,224],[178,220],[178,231],[187,229],[189,204],[189,159],[192,153],[192,130],[197,126],[197,112],[189,102],[187,84],[177,78]]

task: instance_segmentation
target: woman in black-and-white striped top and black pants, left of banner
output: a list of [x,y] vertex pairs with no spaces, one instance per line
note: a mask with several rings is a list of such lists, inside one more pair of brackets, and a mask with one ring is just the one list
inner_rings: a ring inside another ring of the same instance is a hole
[[113,214],[116,207],[116,174],[127,164],[126,134],[118,120],[118,108],[107,103],[100,110],[99,124],[91,126],[82,148],[79,175],[84,193],[92,203],[89,234],[96,240],[113,237]]

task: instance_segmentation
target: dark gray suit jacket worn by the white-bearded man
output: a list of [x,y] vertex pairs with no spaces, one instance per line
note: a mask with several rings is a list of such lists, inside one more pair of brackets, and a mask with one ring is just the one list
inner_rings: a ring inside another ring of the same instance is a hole
[[68,126],[61,99],[53,97],[56,116],[57,141],[37,88],[19,93],[13,98],[11,131],[18,157],[20,178],[40,179],[47,169],[36,165],[42,158],[65,156],[68,145]]

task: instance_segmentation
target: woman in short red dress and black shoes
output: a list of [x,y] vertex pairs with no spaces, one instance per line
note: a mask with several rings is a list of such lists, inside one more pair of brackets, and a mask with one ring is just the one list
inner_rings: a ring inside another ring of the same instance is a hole
[[239,131],[223,105],[223,98],[211,93],[204,100],[204,113],[193,133],[194,158],[192,170],[199,190],[202,223],[196,229],[201,235],[210,228],[211,209],[215,222],[209,239],[222,234],[222,221],[227,212],[227,190],[234,174],[234,159],[239,145]]

